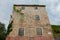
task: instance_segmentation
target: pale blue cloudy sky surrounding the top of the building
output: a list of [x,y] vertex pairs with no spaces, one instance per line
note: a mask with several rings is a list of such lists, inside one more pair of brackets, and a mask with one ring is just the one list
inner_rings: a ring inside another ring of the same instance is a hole
[[0,0],[0,22],[7,27],[14,4],[46,5],[50,24],[60,25],[60,0]]

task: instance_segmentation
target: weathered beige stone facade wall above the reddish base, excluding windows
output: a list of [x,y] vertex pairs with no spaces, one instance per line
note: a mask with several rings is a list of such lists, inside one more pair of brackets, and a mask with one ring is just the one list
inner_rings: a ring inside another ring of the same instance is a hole
[[[17,9],[20,9],[21,6],[16,6]],[[20,14],[13,10],[12,19],[13,19],[13,31],[10,33],[10,37],[19,36],[19,28],[24,28],[24,36],[35,37],[36,28],[42,28],[42,36],[53,37],[52,29],[48,20],[47,12],[45,7],[39,7],[35,9],[35,6],[25,6],[25,9],[21,11],[24,13],[24,21],[20,21]],[[35,20],[35,15],[39,15],[40,20]],[[30,31],[32,34],[29,34],[29,28],[32,28]],[[50,34],[48,34],[50,32]]]

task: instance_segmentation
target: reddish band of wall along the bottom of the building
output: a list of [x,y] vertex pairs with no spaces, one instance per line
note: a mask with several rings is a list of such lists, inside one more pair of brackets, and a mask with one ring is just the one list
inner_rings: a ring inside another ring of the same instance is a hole
[[6,40],[53,40],[52,37],[45,37],[45,36],[36,36],[36,37],[7,37]]

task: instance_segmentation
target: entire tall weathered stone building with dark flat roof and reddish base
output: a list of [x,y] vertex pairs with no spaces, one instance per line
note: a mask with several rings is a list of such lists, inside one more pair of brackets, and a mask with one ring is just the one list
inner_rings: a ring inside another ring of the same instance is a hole
[[53,40],[45,5],[14,5],[6,40]]

